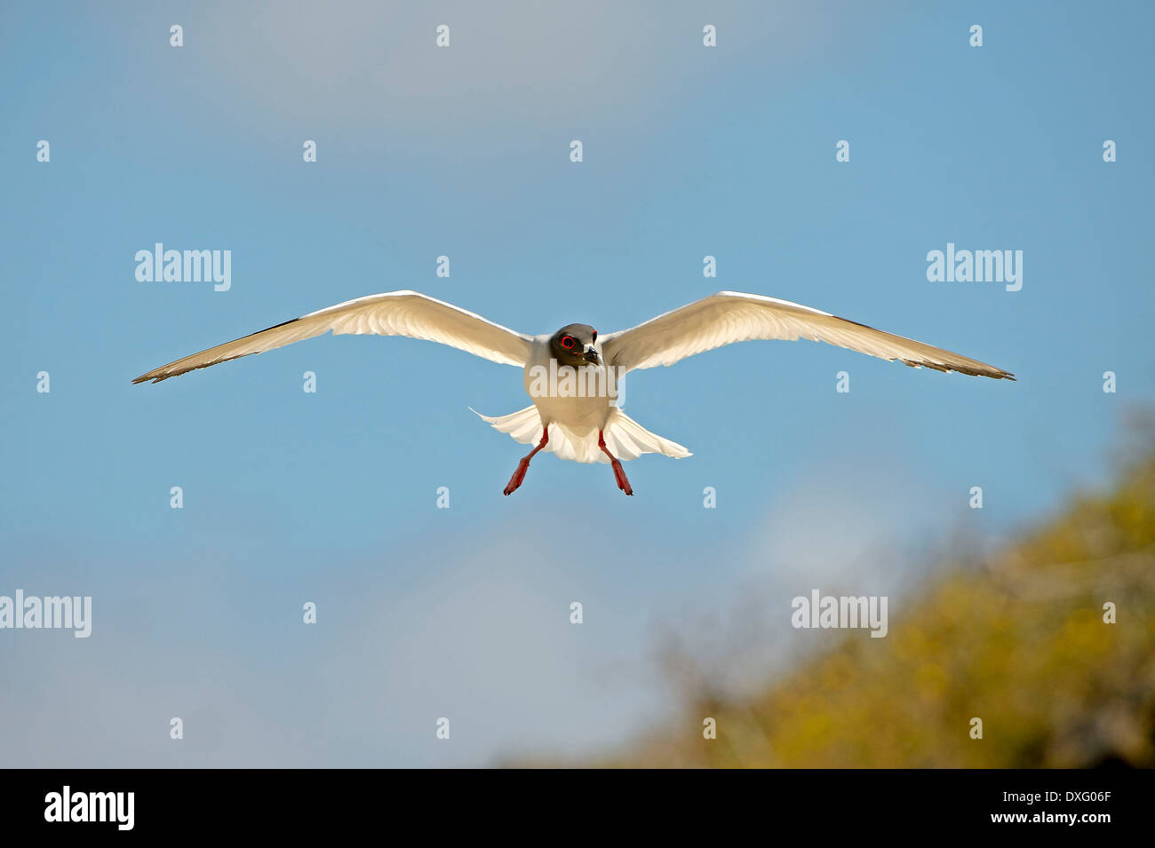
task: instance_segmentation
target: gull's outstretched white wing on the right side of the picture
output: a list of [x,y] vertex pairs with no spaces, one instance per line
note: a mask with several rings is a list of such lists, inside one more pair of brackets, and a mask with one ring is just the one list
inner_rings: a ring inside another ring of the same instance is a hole
[[1009,372],[941,347],[892,336],[788,300],[742,292],[718,292],[631,330],[603,336],[602,355],[611,366],[656,368],[735,342],[799,338],[880,359],[896,359],[915,368],[1014,380]]

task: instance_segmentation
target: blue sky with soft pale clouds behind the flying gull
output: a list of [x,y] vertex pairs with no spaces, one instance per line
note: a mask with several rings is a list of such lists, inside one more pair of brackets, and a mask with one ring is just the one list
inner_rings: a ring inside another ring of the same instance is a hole
[[[542,6],[0,9],[0,594],[94,598],[89,639],[0,631],[0,761],[612,749],[669,715],[663,633],[717,669],[781,662],[837,638],[799,643],[791,596],[901,595],[911,551],[989,543],[1106,478],[1120,413],[1155,396],[1155,10]],[[139,283],[157,241],[231,250],[231,290]],[[1022,290],[929,283],[947,242],[1022,250]],[[527,405],[520,374],[427,343],[323,338],[129,383],[395,288],[531,333],[755,292],[1019,382],[802,342],[636,373],[629,414],[694,456],[628,464],[633,498],[552,456],[502,497],[524,449],[467,407]]]

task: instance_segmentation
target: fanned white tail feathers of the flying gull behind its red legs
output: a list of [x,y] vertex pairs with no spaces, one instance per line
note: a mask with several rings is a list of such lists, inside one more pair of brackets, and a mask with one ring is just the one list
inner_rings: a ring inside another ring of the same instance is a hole
[[[492,425],[495,430],[508,433],[514,441],[522,444],[537,444],[542,438],[542,417],[534,405],[508,415],[494,418],[483,415],[472,407],[469,411],[486,423]],[[610,412],[610,420],[602,433],[605,437],[605,446],[621,460],[636,459],[642,453],[663,453],[675,459],[693,456],[677,442],[650,433],[618,408]],[[553,451],[559,459],[572,459],[575,463],[610,461],[605,451],[597,445],[596,429],[576,433],[556,421],[550,425],[550,441],[546,443],[545,450]]]

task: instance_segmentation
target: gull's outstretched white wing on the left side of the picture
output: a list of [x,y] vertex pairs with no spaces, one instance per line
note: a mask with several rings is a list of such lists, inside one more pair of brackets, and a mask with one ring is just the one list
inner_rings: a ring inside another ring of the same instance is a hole
[[323,336],[330,330],[334,336],[342,333],[409,336],[440,342],[494,362],[519,367],[524,366],[529,359],[532,342],[529,336],[494,324],[453,303],[418,292],[385,292],[337,303],[236,342],[226,342],[178,359],[142,374],[133,382],[143,383],[151,380],[158,383],[195,368],[207,368],[217,362]]

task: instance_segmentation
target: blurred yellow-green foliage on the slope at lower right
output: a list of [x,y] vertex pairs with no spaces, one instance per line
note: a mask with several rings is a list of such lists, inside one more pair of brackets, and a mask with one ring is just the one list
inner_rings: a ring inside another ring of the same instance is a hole
[[1155,766],[1152,442],[1132,457],[1109,493],[892,603],[886,638],[848,632],[752,696],[691,691],[677,726],[595,765]]

